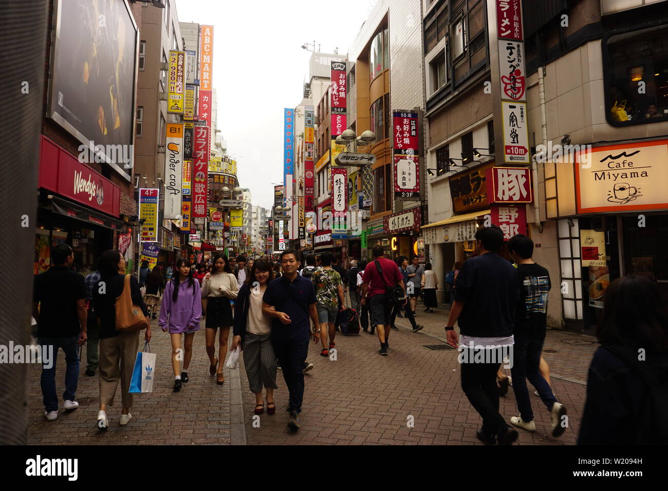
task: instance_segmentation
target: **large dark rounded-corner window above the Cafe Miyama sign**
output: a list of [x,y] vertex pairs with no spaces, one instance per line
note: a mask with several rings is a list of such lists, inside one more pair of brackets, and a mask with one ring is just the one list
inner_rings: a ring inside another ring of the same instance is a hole
[[610,124],[668,120],[668,24],[604,38],[603,71]]

